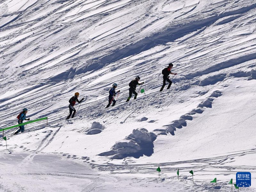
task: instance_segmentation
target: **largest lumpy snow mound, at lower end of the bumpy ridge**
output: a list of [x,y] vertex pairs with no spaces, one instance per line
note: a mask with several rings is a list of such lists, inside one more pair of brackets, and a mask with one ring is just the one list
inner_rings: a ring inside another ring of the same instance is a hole
[[156,140],[155,133],[148,132],[145,128],[133,129],[132,134],[117,141],[110,151],[100,153],[99,156],[111,156],[112,159],[151,156],[154,152],[154,140]]

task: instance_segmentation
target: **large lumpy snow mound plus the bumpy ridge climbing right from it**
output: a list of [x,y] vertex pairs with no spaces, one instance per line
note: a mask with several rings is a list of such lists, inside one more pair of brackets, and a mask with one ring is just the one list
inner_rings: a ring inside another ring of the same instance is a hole
[[[117,141],[110,151],[100,153],[99,156],[110,156],[111,159],[123,159],[128,156],[139,158],[146,155],[151,156],[154,153],[154,141],[157,135],[175,135],[176,128],[187,126],[186,120],[193,120],[192,115],[201,114],[205,108],[212,108],[214,98],[221,96],[220,91],[214,91],[206,100],[200,103],[196,109],[180,116],[179,120],[172,121],[171,124],[164,125],[163,129],[155,129],[153,132],[148,132],[145,128],[133,129],[132,134],[126,136],[123,140]],[[144,117],[143,117],[144,118]],[[96,123],[96,122],[93,122]]]

